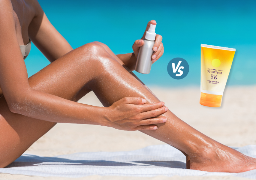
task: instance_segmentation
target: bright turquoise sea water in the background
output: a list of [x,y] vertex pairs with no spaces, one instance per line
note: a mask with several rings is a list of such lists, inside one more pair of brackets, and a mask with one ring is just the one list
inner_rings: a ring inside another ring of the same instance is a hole
[[[155,19],[164,55],[150,74],[136,72],[148,85],[200,85],[200,44],[236,48],[227,85],[256,84],[256,1],[38,1],[73,48],[100,41],[116,54],[132,52],[147,22]],[[190,66],[184,79],[167,73],[176,57]],[[25,62],[29,76],[49,64],[34,45]]]

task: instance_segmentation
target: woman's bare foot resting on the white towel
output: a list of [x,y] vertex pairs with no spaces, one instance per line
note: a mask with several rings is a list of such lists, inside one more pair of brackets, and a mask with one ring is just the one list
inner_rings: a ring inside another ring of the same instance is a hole
[[199,156],[187,157],[187,169],[242,173],[256,169],[256,159],[216,142],[215,146],[205,149]]

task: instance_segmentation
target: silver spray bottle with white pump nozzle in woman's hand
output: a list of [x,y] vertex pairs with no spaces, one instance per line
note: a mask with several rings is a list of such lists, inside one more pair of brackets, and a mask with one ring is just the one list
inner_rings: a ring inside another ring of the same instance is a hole
[[152,58],[151,56],[154,53],[153,46],[155,44],[155,26],[150,24],[149,30],[146,32],[146,36],[144,39],[144,44],[140,47],[137,62],[135,66],[135,70],[138,73],[149,74],[151,65],[152,65]]

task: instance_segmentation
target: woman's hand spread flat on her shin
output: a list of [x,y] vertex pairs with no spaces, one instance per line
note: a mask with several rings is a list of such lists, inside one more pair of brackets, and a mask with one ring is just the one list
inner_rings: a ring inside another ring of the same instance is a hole
[[125,130],[156,130],[154,124],[167,121],[164,117],[155,118],[165,113],[168,108],[164,102],[145,104],[146,100],[140,97],[122,98],[108,107],[107,120],[110,127]]

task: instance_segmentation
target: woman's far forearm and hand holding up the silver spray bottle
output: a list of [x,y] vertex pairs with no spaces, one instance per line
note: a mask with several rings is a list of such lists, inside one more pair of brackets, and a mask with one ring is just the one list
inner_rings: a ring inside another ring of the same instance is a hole
[[[151,20],[148,22],[146,30],[142,36],[141,39],[138,39],[134,42],[134,44],[132,45],[132,49],[133,49],[133,53],[128,53],[128,54],[118,54],[116,55],[117,57],[119,57],[123,63],[131,70],[135,70],[135,65],[136,65],[136,61],[137,61],[137,55],[139,53],[139,49],[140,47],[143,45],[144,41],[143,39],[145,38],[146,32],[149,29],[149,26],[151,24],[156,25],[155,20]],[[156,35],[155,36],[155,45],[153,46],[153,50],[155,51],[152,54],[152,62],[154,63],[155,61],[157,61],[164,53],[164,45],[162,43],[162,36],[161,35]]]

